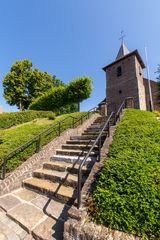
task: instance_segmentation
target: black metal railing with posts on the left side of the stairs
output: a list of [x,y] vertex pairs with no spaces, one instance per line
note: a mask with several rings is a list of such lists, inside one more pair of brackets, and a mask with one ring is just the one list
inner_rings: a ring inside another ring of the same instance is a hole
[[[28,147],[30,144],[32,144],[34,141],[37,141],[37,146],[36,146],[36,152],[39,152],[41,147],[40,147],[40,142],[41,142],[41,137],[49,132],[51,129],[54,129],[56,126],[58,126],[58,136],[60,136],[61,134],[61,124],[64,123],[67,119],[69,118],[72,118],[73,121],[72,121],[72,126],[71,128],[74,128],[75,127],[75,123],[81,121],[80,123],[82,124],[83,123],[83,119],[88,116],[90,116],[90,112],[94,112],[97,110],[97,107],[94,107],[92,109],[90,109],[87,114],[84,114],[80,117],[73,117],[73,116],[68,116],[64,119],[62,119],[61,121],[58,121],[57,123],[51,125],[49,128],[47,128],[46,130],[42,131],[41,133],[37,134],[35,137],[33,137],[32,139],[30,139],[29,141],[23,143],[22,145],[20,145],[19,147],[15,148],[14,150],[12,150],[11,152],[9,152],[5,157],[4,157],[4,160],[2,162],[2,164],[0,165],[1,168],[2,168],[2,176],[1,176],[1,179],[4,179],[5,178],[5,175],[6,175],[6,165],[7,165],[7,161],[8,159],[10,159],[12,156],[14,156],[17,152],[19,152],[20,150],[23,150],[25,149],[25,147]],[[77,120],[78,119],[78,120]],[[76,121],[77,120],[77,121]]]

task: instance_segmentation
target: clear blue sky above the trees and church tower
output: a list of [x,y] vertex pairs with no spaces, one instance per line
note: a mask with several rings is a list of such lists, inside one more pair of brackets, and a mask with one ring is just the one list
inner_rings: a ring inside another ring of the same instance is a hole
[[15,111],[3,98],[2,81],[16,60],[29,59],[67,83],[79,76],[93,79],[92,97],[81,110],[105,97],[102,67],[111,63],[126,34],[130,51],[145,60],[148,48],[152,79],[160,63],[159,0],[1,0],[0,106]]

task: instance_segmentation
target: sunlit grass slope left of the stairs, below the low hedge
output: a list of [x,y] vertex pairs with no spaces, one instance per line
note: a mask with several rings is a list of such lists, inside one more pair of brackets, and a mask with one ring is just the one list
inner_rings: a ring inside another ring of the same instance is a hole
[[[63,120],[68,116],[80,117],[84,115],[84,112],[64,114],[56,117],[55,120],[49,119],[35,119],[28,123],[23,123],[18,126],[11,127],[10,129],[2,130],[0,129],[0,165],[2,164],[5,156],[19,147],[23,143],[34,138],[40,132],[48,129],[51,125]],[[68,118],[61,125],[61,132],[65,129],[70,128],[72,124],[72,118]],[[57,136],[58,125],[52,128],[49,132],[41,138],[41,146],[44,146],[50,142],[54,137]],[[7,161],[7,172],[10,172],[17,168],[22,162],[24,162],[28,157],[32,156],[36,152],[37,141],[33,141],[25,149],[16,153]]]

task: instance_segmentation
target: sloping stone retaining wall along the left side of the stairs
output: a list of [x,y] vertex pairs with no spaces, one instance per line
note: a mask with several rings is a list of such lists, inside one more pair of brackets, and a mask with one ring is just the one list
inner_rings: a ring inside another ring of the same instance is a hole
[[0,195],[6,194],[21,187],[24,179],[31,177],[32,172],[43,166],[43,162],[49,161],[56,153],[56,149],[60,148],[70,136],[80,135],[99,115],[93,114],[82,125],[75,129],[64,131],[61,136],[54,138],[49,144],[44,146],[39,153],[35,153],[32,157],[26,160],[20,167],[13,171],[5,180],[0,180]]

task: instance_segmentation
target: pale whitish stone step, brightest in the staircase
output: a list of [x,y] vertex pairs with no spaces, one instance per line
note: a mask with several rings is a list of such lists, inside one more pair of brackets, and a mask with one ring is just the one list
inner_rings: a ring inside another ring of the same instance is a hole
[[[57,162],[65,162],[65,163],[77,163],[77,164],[79,164],[81,161],[83,161],[83,159],[84,159],[84,156],[83,157],[78,157],[78,156],[68,156],[68,155],[53,155],[51,158],[50,158],[50,160],[51,161],[57,161]],[[96,157],[94,157],[94,156],[90,156],[88,159],[87,159],[87,161],[86,161],[86,163],[85,163],[85,165],[87,165],[88,163],[90,163],[90,162],[95,162],[96,161]]]

